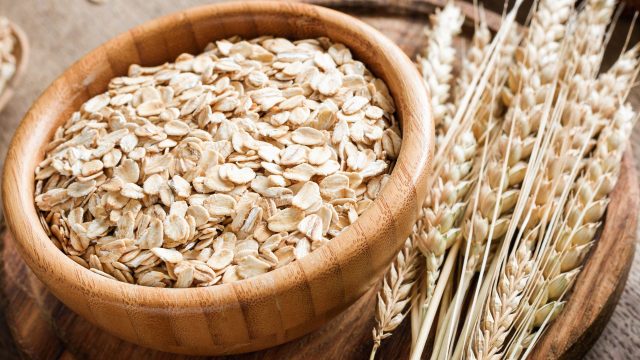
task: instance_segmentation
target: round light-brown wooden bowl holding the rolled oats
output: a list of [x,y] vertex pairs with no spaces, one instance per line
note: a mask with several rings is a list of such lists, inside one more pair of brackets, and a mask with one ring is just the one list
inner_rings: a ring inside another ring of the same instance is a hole
[[[55,129],[130,64],[157,65],[232,35],[327,36],[350,47],[384,79],[397,105],[403,144],[391,181],[343,234],[275,271],[209,288],[158,289],[109,280],[68,259],[34,207],[34,169]],[[411,61],[392,41],[337,11],[300,3],[197,7],[145,23],[93,50],[49,86],[22,120],[3,181],[6,219],[27,265],[64,304],[108,332],[184,354],[248,352],[319,327],[380,278],[408,236],[432,161],[429,99]],[[347,336],[347,335],[345,335]]]

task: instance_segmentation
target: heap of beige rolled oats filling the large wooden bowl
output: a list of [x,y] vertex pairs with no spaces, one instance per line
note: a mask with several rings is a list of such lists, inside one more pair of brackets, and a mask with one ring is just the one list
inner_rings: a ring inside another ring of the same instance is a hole
[[371,205],[400,150],[394,103],[342,44],[239,38],[133,65],[60,127],[36,169],[52,240],[146,286],[256,276]]

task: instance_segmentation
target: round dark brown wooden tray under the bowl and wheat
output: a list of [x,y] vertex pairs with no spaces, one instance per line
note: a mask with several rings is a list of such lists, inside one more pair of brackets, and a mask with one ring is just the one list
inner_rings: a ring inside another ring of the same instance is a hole
[[[433,4],[444,3],[435,0],[312,2],[360,17],[396,41],[412,57],[424,45],[423,26],[427,15],[433,12]],[[472,7],[467,3],[461,3],[461,6],[467,18],[472,18]],[[495,28],[499,17],[493,13],[488,15],[490,26]],[[471,23],[469,21],[468,25]],[[457,39],[458,47],[466,45],[471,29],[467,26],[465,36]],[[587,260],[565,311],[541,339],[532,358],[581,358],[611,316],[633,259],[639,199],[634,169],[628,152],[619,183],[612,194],[602,237]],[[91,325],[44,288],[20,259],[10,234],[5,233],[1,239],[0,299],[6,323],[0,325],[3,335],[0,342],[7,342],[7,338],[14,340],[12,344],[3,344],[6,355],[20,354],[34,359],[184,358],[126,343]],[[372,289],[314,333],[276,348],[233,358],[368,358],[376,290]],[[393,337],[385,340],[378,358],[406,358],[409,344],[410,331],[405,322]],[[7,348],[8,345],[12,347]]]

